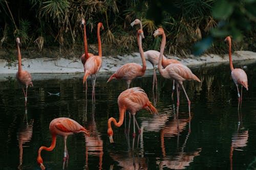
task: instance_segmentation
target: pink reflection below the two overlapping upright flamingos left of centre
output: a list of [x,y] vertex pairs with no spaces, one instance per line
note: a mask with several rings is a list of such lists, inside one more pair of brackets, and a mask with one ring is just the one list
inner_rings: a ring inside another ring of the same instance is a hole
[[103,156],[103,140],[97,130],[97,126],[94,119],[95,102],[92,103],[92,117],[89,120],[88,129],[91,132],[90,136],[86,136],[86,169],[88,167],[88,156],[99,157],[99,169],[102,169],[102,156]]

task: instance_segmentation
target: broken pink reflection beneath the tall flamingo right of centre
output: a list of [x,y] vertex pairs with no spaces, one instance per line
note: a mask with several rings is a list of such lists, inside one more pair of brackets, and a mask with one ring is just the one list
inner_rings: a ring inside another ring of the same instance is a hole
[[[171,169],[184,169],[186,166],[189,166],[191,162],[194,161],[194,157],[200,155],[201,148],[198,148],[197,151],[194,152],[184,152],[184,148],[186,147],[187,140],[190,135],[190,131],[186,135],[185,141],[182,144],[182,147],[179,148],[179,135],[180,133],[186,129],[187,123],[190,126],[190,119],[177,119],[175,115],[174,119],[169,121],[166,126],[161,131],[161,148],[163,158],[158,158],[157,164],[159,164],[159,169],[163,168],[171,168]],[[177,129],[177,125],[179,128]],[[175,156],[167,156],[165,152],[165,144],[164,137],[175,137],[177,136],[177,150]]]

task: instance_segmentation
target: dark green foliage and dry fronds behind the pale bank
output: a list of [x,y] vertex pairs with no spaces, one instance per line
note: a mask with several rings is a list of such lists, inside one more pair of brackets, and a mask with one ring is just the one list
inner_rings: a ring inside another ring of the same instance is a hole
[[[144,51],[160,49],[161,39],[152,38],[159,27],[167,36],[166,54],[224,54],[227,35],[233,36],[234,50],[256,51],[255,6],[256,0],[0,0],[0,49],[12,55],[15,38],[20,37],[23,52],[34,57],[49,57],[49,52],[80,56],[84,18],[89,52],[97,54],[96,27],[102,22],[103,55],[130,54],[138,52],[135,34],[139,29],[130,23],[139,18]],[[2,54],[1,58],[10,57]]]

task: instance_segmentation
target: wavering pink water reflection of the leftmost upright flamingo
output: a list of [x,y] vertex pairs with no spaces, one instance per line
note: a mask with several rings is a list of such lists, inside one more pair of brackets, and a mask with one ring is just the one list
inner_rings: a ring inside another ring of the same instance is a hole
[[28,111],[27,111],[27,108],[25,108],[24,118],[23,118],[22,124],[19,128],[19,131],[17,133],[17,140],[18,140],[18,147],[19,147],[18,169],[23,169],[22,168],[23,148],[29,147],[29,146],[26,146],[23,144],[25,144],[26,142],[29,142],[31,140],[32,133],[33,133],[33,123],[34,123],[33,119],[30,120],[30,123],[28,122]]

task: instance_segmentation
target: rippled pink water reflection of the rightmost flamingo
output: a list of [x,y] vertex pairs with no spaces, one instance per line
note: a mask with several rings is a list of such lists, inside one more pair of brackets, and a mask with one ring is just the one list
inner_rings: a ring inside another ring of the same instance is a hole
[[[238,106],[239,107],[239,106]],[[232,141],[231,141],[231,147],[230,147],[230,154],[229,154],[229,160],[230,160],[230,169],[233,169],[233,151],[243,151],[243,147],[246,147],[247,141],[248,141],[248,130],[245,130],[242,126],[242,115],[238,110],[238,129],[236,132],[232,135]],[[240,127],[241,126],[241,127]]]

